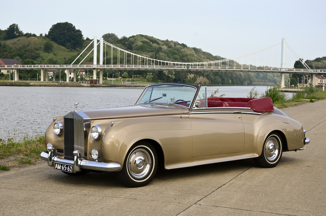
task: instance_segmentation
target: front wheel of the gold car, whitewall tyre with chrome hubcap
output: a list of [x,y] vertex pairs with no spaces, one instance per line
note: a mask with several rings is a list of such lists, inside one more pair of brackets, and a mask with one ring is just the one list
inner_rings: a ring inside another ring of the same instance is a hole
[[141,143],[128,151],[118,179],[128,187],[145,186],[154,178],[157,163],[155,148],[149,143]]

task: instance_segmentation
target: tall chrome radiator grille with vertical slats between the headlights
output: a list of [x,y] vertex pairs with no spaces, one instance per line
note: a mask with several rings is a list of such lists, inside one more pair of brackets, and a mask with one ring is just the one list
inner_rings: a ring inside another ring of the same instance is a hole
[[64,116],[64,159],[73,160],[73,151],[81,152],[84,159],[84,119],[76,112]]

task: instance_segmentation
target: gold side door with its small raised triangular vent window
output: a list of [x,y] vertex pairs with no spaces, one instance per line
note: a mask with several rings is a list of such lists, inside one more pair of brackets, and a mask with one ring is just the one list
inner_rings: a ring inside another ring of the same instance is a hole
[[201,87],[196,101],[201,101],[201,106],[189,113],[193,134],[192,157],[243,152],[245,133],[240,109],[207,108],[206,87]]

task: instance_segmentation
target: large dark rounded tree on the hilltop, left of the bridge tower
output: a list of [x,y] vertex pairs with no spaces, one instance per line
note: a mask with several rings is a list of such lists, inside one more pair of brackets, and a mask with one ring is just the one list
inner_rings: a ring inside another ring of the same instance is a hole
[[69,22],[54,24],[47,36],[64,47],[70,46],[73,49],[83,47],[84,38],[82,32]]

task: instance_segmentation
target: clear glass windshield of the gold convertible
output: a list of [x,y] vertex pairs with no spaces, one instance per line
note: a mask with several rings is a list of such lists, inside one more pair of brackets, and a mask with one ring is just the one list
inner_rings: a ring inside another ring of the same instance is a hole
[[184,85],[155,85],[147,87],[136,104],[141,103],[174,103],[189,107],[196,92],[195,87]]

